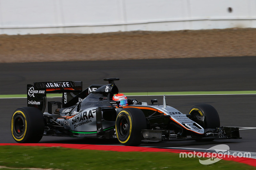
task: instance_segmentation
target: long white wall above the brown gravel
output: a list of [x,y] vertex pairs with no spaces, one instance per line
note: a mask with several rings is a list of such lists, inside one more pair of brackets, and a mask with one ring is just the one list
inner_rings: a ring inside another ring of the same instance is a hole
[[232,27],[256,28],[256,0],[0,0],[0,34]]

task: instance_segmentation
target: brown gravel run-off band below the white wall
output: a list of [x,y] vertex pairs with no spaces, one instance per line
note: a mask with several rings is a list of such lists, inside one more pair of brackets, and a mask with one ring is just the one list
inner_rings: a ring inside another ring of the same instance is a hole
[[255,55],[252,28],[0,35],[0,63]]

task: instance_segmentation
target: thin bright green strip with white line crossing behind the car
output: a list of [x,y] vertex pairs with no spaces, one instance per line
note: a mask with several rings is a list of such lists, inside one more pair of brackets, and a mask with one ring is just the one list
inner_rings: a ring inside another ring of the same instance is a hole
[[[123,92],[122,92],[123,93]],[[142,95],[216,95],[216,94],[256,94],[256,91],[211,91],[211,92],[127,92],[126,96]],[[27,94],[2,94],[0,98],[26,98]],[[47,97],[62,97],[62,94],[49,93]]]

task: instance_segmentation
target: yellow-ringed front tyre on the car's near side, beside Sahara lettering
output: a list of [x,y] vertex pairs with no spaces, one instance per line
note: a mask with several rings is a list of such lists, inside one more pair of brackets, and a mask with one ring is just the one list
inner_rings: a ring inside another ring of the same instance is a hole
[[116,136],[126,146],[141,144],[141,130],[147,128],[144,113],[137,108],[122,109],[116,118]]

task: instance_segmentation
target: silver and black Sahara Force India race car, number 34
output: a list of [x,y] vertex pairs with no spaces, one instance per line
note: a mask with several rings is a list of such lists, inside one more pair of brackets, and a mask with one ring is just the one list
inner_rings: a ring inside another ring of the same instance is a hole
[[[28,107],[12,115],[12,137],[18,143],[37,143],[42,136],[117,138],[121,144],[136,146],[141,141],[211,141],[238,139],[239,129],[220,127],[218,112],[208,104],[191,108],[189,114],[163,105],[118,100],[118,88],[82,82],[37,82],[27,85]],[[46,102],[46,93],[62,93],[62,101]],[[113,98],[114,97],[114,98]],[[115,100],[117,99],[117,100]],[[123,103],[125,101],[125,103]],[[48,105],[48,112],[44,112]]]

